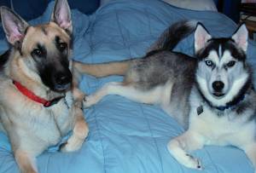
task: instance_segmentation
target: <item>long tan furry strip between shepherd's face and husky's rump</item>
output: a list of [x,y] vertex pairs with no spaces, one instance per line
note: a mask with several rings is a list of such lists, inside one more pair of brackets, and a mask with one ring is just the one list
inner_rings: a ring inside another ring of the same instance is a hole
[[131,61],[110,62],[92,65],[74,61],[73,64],[79,72],[90,74],[96,78],[102,78],[110,75],[125,75],[131,65]]

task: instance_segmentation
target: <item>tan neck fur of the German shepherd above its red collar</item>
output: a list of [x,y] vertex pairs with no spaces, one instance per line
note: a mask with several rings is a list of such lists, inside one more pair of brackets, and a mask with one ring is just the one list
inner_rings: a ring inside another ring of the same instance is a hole
[[65,94],[57,93],[53,90],[50,90],[44,84],[42,84],[41,79],[34,72],[29,72],[28,67],[25,65],[24,61],[19,58],[20,53],[18,51],[13,50],[13,55],[11,55],[9,62],[7,63],[7,67],[5,74],[12,79],[13,81],[17,81],[26,89],[29,89],[35,95],[42,97],[46,100],[53,100],[56,97],[60,97]]

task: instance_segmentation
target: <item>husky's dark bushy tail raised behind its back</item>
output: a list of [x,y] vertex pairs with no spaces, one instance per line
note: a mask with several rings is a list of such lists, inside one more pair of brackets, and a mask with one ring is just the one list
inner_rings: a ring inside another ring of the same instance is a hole
[[182,20],[174,23],[160,35],[148,52],[174,49],[177,43],[195,31],[196,26],[197,21],[195,20]]

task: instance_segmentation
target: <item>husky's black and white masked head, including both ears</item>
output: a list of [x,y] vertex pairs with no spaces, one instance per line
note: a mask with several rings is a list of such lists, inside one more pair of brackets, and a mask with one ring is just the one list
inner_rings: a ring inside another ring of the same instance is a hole
[[208,101],[218,102],[215,106],[224,106],[232,101],[247,82],[246,49],[247,29],[244,25],[231,38],[212,38],[203,26],[197,26],[197,84]]

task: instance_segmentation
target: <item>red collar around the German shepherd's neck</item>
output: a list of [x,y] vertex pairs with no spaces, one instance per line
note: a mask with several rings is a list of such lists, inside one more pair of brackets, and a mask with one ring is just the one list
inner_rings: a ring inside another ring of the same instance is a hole
[[26,95],[32,101],[41,103],[42,105],[44,105],[44,107],[50,107],[50,106],[56,104],[57,102],[59,102],[63,98],[63,96],[61,96],[61,97],[57,97],[51,101],[47,101],[44,98],[41,98],[38,95],[35,95],[34,93],[32,93],[31,90],[26,89],[26,87],[23,86],[22,84],[20,84],[19,82],[13,81],[13,84],[15,84],[16,88],[20,91],[20,93],[22,93],[23,95]]

